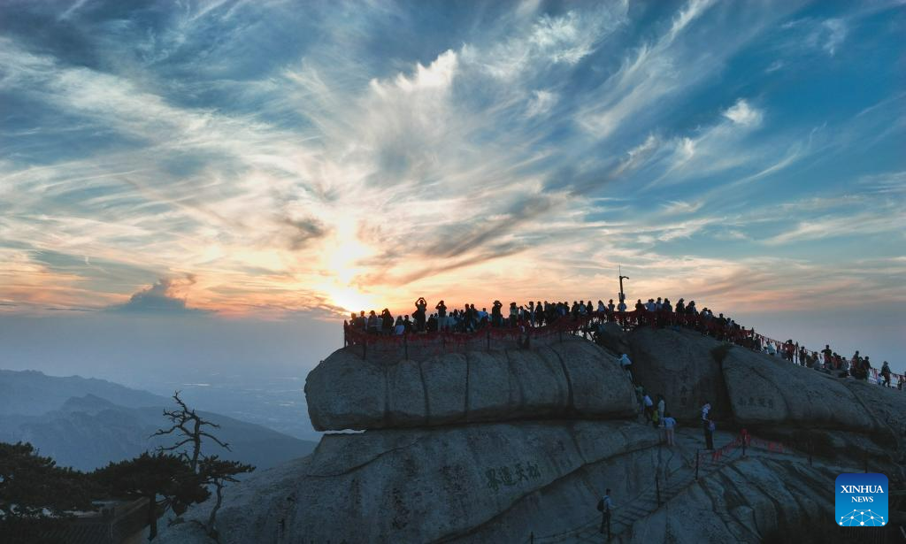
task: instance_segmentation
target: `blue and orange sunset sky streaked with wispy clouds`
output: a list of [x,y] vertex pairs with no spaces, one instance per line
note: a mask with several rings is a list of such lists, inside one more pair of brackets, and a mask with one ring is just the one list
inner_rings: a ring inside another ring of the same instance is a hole
[[0,0],[0,366],[315,364],[351,310],[622,267],[902,370],[903,35],[889,0]]

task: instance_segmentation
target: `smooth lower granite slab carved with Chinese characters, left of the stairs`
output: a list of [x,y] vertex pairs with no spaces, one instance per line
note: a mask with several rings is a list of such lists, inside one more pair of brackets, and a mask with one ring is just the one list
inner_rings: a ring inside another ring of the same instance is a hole
[[[227,492],[220,542],[524,541],[594,517],[604,485],[621,496],[651,487],[656,444],[651,427],[621,422],[326,434],[304,461]],[[545,500],[565,482],[568,501]],[[508,518],[515,504],[525,509]],[[486,524],[495,539],[477,536]]]

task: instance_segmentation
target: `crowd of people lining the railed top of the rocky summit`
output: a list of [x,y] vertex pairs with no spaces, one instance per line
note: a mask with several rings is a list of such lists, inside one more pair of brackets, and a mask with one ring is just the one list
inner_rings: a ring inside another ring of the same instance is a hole
[[[687,327],[699,330],[718,340],[733,342],[773,357],[785,358],[791,363],[814,368],[839,377],[854,377],[867,380],[872,374],[872,362],[868,356],[861,356],[858,351],[852,358],[845,358],[825,345],[820,352],[809,350],[804,345],[787,339],[786,342],[766,339],[756,334],[755,329],[746,329],[735,320],[722,313],[714,314],[707,307],[698,309],[695,301],[686,302],[679,299],[672,303],[668,298],[658,297],[642,302],[635,302],[634,309],[627,311],[626,304],[614,303],[611,299],[593,303],[588,301],[529,301],[527,304],[510,302],[505,307],[501,301],[494,301],[490,311],[487,307],[480,310],[475,304],[468,303],[461,308],[449,308],[444,301],[434,305],[429,311],[429,303],[423,297],[415,301],[415,310],[411,314],[398,315],[395,318],[385,308],[381,313],[371,310],[367,314],[362,310],[354,312],[347,326],[354,330],[372,335],[403,336],[431,332],[474,333],[483,329],[520,329],[530,330],[561,320],[583,321],[580,329],[586,338],[594,337],[607,322],[616,322],[624,329],[641,325],[655,327]],[[906,386],[904,377],[892,381],[892,371],[887,361],[883,361],[878,371],[879,384],[885,387]]]

